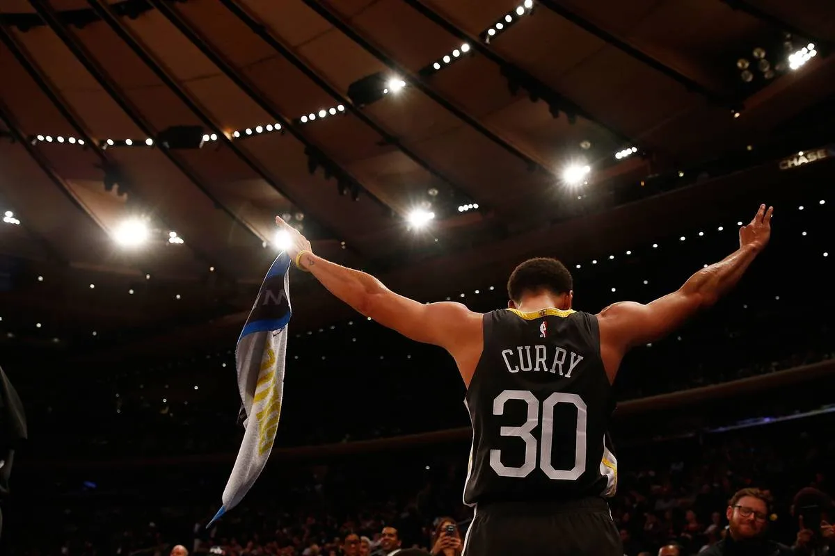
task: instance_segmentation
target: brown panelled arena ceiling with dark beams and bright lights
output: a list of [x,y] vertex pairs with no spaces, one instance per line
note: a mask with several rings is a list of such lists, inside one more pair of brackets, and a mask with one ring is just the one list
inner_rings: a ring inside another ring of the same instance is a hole
[[44,342],[239,327],[276,214],[426,300],[650,238],[782,184],[733,161],[835,93],[827,0],[0,0],[0,39],[3,324]]

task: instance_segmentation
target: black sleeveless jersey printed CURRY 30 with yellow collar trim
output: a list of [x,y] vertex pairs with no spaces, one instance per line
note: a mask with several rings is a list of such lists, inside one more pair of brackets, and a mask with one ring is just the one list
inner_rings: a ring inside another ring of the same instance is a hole
[[502,309],[484,315],[483,333],[464,398],[473,423],[464,503],[613,495],[605,436],[615,403],[595,315]]

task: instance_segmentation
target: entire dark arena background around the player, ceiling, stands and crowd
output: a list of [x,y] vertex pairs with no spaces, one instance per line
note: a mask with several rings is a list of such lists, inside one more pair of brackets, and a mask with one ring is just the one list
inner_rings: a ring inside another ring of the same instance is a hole
[[558,258],[595,314],[761,203],[739,283],[623,360],[608,503],[626,556],[835,553],[829,0],[0,0],[0,39],[3,556],[462,553],[455,360],[292,264],[269,461],[207,528],[276,215],[479,313]]

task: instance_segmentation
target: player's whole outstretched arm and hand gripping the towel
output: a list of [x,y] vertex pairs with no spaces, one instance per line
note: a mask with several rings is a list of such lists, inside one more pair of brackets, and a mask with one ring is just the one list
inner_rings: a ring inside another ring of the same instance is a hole
[[371,274],[346,268],[317,257],[311,244],[295,228],[276,217],[276,223],[290,234],[287,253],[302,270],[314,277],[337,298],[366,317],[392,328],[417,342],[446,348],[459,360],[463,348],[480,343],[482,315],[461,303],[418,303],[386,288]]

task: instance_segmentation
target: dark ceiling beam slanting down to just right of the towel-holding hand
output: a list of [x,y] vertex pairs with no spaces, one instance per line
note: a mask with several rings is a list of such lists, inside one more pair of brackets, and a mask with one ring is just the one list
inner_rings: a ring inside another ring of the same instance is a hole
[[[241,150],[238,145],[224,133],[223,129],[220,128],[220,125],[210,117],[209,112],[200,106],[200,102],[196,98],[193,98],[192,95],[177,82],[177,80],[170,74],[170,69],[166,68],[164,63],[160,62],[159,59],[151,53],[150,49],[139,38],[134,36],[134,33],[132,33],[128,28],[125,28],[107,4],[102,3],[99,0],[88,0],[88,3],[99,18],[102,18],[104,23],[107,23],[109,28],[111,28],[113,32],[128,45],[128,48],[136,54],[137,58],[142,60],[145,66],[149,68],[154,75],[156,75],[157,78],[159,78],[159,80],[170,89],[172,93],[175,93],[177,98],[180,98],[180,101],[184,103],[185,106],[188,107],[189,110],[195,114],[195,116],[197,116],[197,118],[200,119],[200,122],[202,122],[206,128],[210,128],[214,133],[216,133],[218,138],[220,138],[220,141],[225,143],[225,145],[230,148],[233,153],[235,153],[235,156],[239,158],[241,162],[245,163],[247,167],[269,184],[271,188],[276,190],[276,192],[280,193],[281,196],[289,200],[297,208],[300,208],[302,211],[315,218],[317,227],[321,228],[327,235],[332,238],[342,238],[342,234],[337,233],[336,230],[330,229],[327,226],[323,215],[317,214],[316,210],[311,209],[309,205],[299,203],[296,198],[293,198],[291,193],[287,192],[286,185],[283,183],[280,184],[278,180],[261,165],[261,163]],[[249,94],[246,90],[244,90],[244,92]]]

